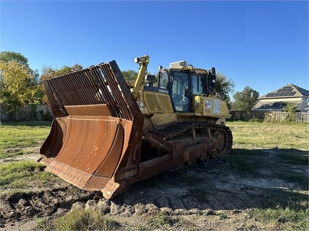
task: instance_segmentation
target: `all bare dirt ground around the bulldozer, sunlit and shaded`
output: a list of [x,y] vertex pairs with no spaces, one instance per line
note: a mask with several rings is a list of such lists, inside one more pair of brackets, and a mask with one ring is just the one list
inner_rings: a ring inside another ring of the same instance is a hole
[[[276,193],[288,196],[286,189],[308,189],[280,179],[281,173],[290,170],[288,165],[276,167],[280,149],[263,152],[260,160],[265,164],[259,164],[254,174],[235,171],[220,158],[205,160],[136,182],[111,201],[100,191],[83,191],[64,181],[39,192],[14,193],[0,198],[0,230],[52,229],[55,218],[79,207],[99,209],[122,230],[149,230],[149,217],[162,213],[181,217],[181,222],[170,224],[170,230],[276,230],[278,223],[254,218],[252,209],[265,208],[265,201],[276,200]],[[39,157],[20,156],[2,162]],[[294,165],[293,171],[308,174],[303,165]]]

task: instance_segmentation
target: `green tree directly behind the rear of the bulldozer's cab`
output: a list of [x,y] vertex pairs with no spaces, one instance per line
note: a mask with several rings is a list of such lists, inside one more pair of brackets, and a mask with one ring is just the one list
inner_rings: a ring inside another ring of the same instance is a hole
[[229,109],[231,108],[230,94],[234,92],[234,89],[235,83],[233,80],[218,71],[216,73],[216,96],[224,100]]

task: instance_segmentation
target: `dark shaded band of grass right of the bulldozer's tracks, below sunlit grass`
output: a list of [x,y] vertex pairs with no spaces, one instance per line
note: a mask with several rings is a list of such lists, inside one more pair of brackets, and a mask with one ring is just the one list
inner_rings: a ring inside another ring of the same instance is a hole
[[[302,188],[308,188],[308,175],[304,172],[297,172],[295,166],[308,165],[308,152],[298,150],[276,150],[273,155],[269,155],[269,150],[245,150],[233,149],[230,155],[212,160],[213,165],[224,170],[235,170],[240,174],[261,176],[263,169],[271,169],[265,177],[277,178],[287,183],[298,184]],[[221,160],[218,164],[217,160]],[[275,168],[273,165],[275,164]],[[303,168],[303,167],[302,167]]]

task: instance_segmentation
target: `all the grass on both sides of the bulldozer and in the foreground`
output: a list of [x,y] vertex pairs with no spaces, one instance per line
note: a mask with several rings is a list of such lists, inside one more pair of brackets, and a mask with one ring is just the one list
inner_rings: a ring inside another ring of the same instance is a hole
[[[29,148],[39,147],[43,143],[49,133],[50,126],[51,123],[46,122],[0,124],[0,160],[32,154],[34,151]],[[265,168],[269,161],[275,164],[268,175],[270,179],[282,179],[287,183],[297,183],[301,187],[293,190],[274,189],[265,192],[263,206],[253,207],[252,216],[256,220],[277,224],[277,230],[306,230],[309,225],[308,176],[295,172],[292,166],[308,166],[309,124],[227,122],[227,126],[233,133],[234,146],[231,153],[233,155],[221,158],[226,163],[224,165],[226,171],[233,171],[249,177],[255,176],[260,174],[258,169]],[[266,154],[272,150],[280,150],[280,152],[276,152],[276,155],[269,158],[269,155]],[[265,160],[265,158],[269,159]],[[266,167],[272,168],[272,165]],[[218,168],[222,168],[222,165]],[[285,168],[284,171],[282,171],[283,168]],[[0,190],[29,190],[33,185],[44,188],[57,180],[59,179],[54,175],[42,171],[42,165],[37,162],[15,161],[0,164]],[[198,176],[187,176],[182,179],[184,185],[189,186],[194,186],[195,182],[200,180]],[[199,187],[195,187],[191,191],[202,197],[207,196],[205,189]],[[76,217],[76,214],[82,215]],[[82,222],[79,227],[87,229],[86,226],[83,226],[85,225],[83,223],[85,217],[88,217],[89,220],[100,221],[98,225],[103,224],[107,230],[115,229],[114,223],[116,221],[84,210],[73,210],[71,214],[68,213],[67,216],[58,220],[55,227],[58,230],[70,228],[67,226],[69,223],[67,218],[73,223]],[[160,228],[161,223],[166,220],[163,218],[166,217],[163,217],[162,214],[151,217],[147,221],[149,229],[145,230],[151,230],[151,227]],[[223,213],[220,219],[226,219]],[[92,228],[96,227],[92,226]],[[97,226],[97,229],[99,228],[102,226]]]

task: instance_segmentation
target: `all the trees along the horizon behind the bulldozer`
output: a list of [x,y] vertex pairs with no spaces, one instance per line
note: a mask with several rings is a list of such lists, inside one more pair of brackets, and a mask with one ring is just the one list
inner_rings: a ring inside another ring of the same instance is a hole
[[[25,104],[46,104],[47,95],[43,80],[83,69],[80,64],[54,68],[43,66],[41,75],[29,67],[28,59],[12,51],[0,52],[0,104],[9,114],[18,112]],[[134,70],[121,71],[126,81],[133,82],[137,77]],[[251,110],[257,103],[259,92],[246,86],[243,91],[235,90],[233,79],[217,72],[216,96],[226,101],[230,110]],[[234,94],[233,94],[234,93]],[[231,100],[230,95],[233,95]]]

